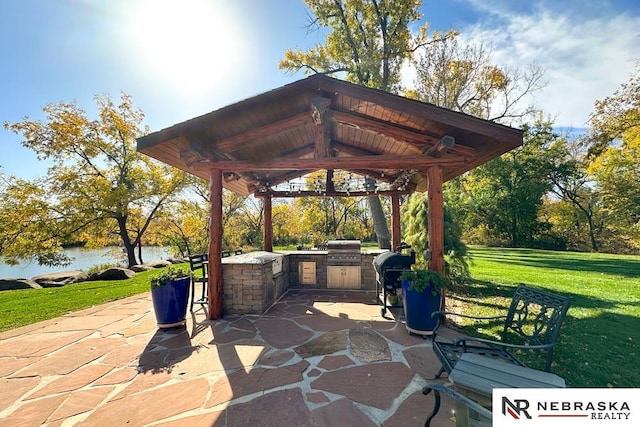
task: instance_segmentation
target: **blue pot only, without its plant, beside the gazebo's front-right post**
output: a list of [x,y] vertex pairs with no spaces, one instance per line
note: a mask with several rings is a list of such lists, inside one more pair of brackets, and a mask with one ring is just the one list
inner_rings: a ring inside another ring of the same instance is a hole
[[432,318],[431,313],[440,310],[442,294],[433,295],[432,285],[427,286],[424,292],[410,290],[410,286],[409,280],[402,281],[402,304],[407,331],[418,335],[433,335],[439,319]]

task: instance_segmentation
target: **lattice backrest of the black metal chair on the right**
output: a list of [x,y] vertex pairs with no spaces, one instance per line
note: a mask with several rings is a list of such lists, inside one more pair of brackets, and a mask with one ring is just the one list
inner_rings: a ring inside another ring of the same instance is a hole
[[[505,320],[503,342],[530,345],[556,343],[570,303],[570,297],[519,285]],[[515,342],[518,338],[524,342]]]

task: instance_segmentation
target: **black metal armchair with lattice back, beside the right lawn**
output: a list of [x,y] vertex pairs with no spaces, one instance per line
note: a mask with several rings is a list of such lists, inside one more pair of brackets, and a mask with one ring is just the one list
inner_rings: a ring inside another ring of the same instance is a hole
[[444,342],[436,340],[434,336],[433,351],[442,362],[436,378],[439,378],[444,371],[451,373],[464,353],[480,354],[525,366],[509,350],[546,351],[545,370],[550,371],[553,349],[557,344],[560,326],[566,317],[570,303],[570,297],[519,285],[506,316],[487,318],[450,312],[433,313],[434,316],[448,314],[479,320],[505,319],[501,341],[463,337],[453,342]]

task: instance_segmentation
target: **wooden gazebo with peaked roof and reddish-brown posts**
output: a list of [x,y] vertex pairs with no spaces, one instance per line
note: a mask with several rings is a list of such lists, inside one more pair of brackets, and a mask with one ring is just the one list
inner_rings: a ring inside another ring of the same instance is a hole
[[[264,198],[264,250],[272,251],[271,198],[364,196],[392,201],[428,191],[430,268],[444,270],[442,184],[522,144],[522,131],[431,104],[313,75],[138,139],[138,151],[210,182],[209,253],[222,251],[222,188]],[[321,190],[281,189],[326,170]],[[366,176],[375,189],[345,192],[334,171]],[[222,264],[210,257],[209,317],[222,315]]]

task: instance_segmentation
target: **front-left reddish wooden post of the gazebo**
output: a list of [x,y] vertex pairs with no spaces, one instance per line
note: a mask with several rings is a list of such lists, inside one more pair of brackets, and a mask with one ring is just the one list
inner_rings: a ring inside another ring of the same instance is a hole
[[209,226],[209,319],[222,317],[222,171],[209,171],[211,217]]

